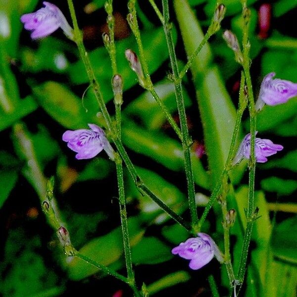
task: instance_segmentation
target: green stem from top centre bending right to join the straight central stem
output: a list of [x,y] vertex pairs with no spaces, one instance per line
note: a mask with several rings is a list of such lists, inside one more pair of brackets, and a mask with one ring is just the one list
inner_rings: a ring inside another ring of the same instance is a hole
[[139,31],[139,27],[138,27],[138,21],[137,21],[136,9],[135,9],[135,0],[129,0],[128,7],[129,7],[129,12],[132,16],[132,20],[130,20],[129,24],[130,24],[131,30],[135,36],[135,39],[136,39],[136,43],[137,43],[138,50],[139,50],[139,59],[141,61],[141,65],[142,65],[143,71],[144,71],[144,77],[145,77],[144,88],[146,90],[148,90],[148,92],[150,92],[152,97],[156,100],[156,102],[160,106],[162,112],[164,113],[167,121],[169,122],[169,124],[171,125],[171,127],[173,128],[173,130],[175,131],[177,136],[179,137],[179,139],[182,141],[182,133],[181,133],[180,128],[174,121],[173,117],[171,116],[171,114],[168,111],[165,104],[162,102],[162,100],[159,98],[158,94],[155,92],[152,81],[150,79],[150,75],[149,75],[149,71],[148,71],[148,63],[147,63],[147,60],[145,57],[145,51],[144,51],[144,47],[143,47],[143,44],[141,41],[140,31]]

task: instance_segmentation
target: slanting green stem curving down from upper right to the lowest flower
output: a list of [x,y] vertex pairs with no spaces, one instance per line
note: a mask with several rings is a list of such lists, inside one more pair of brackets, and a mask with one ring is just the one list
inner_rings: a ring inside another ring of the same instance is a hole
[[230,144],[230,148],[229,148],[229,153],[228,153],[228,157],[223,169],[223,172],[220,176],[220,178],[218,179],[212,193],[211,196],[209,198],[209,201],[200,217],[199,223],[198,223],[198,230],[201,229],[208,212],[210,211],[215,199],[218,197],[220,190],[222,188],[222,180],[225,177],[225,175],[228,173],[228,171],[232,168],[232,158],[234,157],[235,154],[235,144],[236,144],[236,139],[238,137],[238,133],[240,130],[240,124],[241,124],[241,119],[244,113],[244,110],[246,109],[247,106],[247,101],[245,99],[245,75],[242,73],[242,77],[241,77],[241,87],[240,87],[240,94],[239,94],[239,108],[237,110],[236,113],[236,119],[235,119],[235,126],[233,129],[233,134],[232,134],[232,138],[231,138],[231,144]]

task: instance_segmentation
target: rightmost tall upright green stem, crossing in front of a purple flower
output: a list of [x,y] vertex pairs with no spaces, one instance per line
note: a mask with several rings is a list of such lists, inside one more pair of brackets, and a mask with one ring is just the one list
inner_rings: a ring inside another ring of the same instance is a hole
[[255,179],[255,130],[256,130],[256,112],[254,97],[252,91],[252,84],[250,78],[250,59],[249,59],[249,41],[248,41],[248,24],[249,24],[249,13],[247,10],[247,1],[243,1],[243,16],[244,16],[244,33],[243,33],[243,68],[246,76],[247,91],[248,91],[248,110],[250,115],[250,160],[249,160],[249,174],[248,174],[248,202],[247,202],[247,228],[244,235],[243,248],[239,263],[238,280],[240,283],[243,282],[246,266],[247,266],[247,253],[251,239],[251,231],[253,222],[256,217],[254,210],[254,179]]

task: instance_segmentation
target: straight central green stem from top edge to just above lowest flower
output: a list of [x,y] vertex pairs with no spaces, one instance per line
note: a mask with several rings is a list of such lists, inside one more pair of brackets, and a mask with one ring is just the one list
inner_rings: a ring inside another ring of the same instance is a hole
[[174,86],[175,86],[176,102],[177,102],[180,123],[181,123],[182,145],[183,145],[183,151],[184,151],[184,163],[185,163],[185,171],[186,171],[186,177],[187,177],[188,199],[189,199],[189,208],[191,213],[192,228],[194,231],[198,231],[197,230],[198,214],[197,214],[196,201],[195,201],[195,186],[194,186],[193,167],[192,167],[191,151],[190,151],[192,140],[190,138],[189,131],[188,131],[186,109],[185,109],[185,103],[184,103],[183,93],[182,93],[182,84],[181,82],[176,81],[179,78],[179,71],[177,66],[177,59],[175,55],[173,38],[172,38],[171,25],[169,24],[168,0],[162,0],[162,5],[163,5],[163,17],[164,17],[163,28],[164,28],[167,47],[169,51],[173,77],[175,81]]

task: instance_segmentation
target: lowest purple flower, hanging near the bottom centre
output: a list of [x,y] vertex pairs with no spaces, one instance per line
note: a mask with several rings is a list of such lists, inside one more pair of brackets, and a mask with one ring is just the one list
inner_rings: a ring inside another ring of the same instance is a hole
[[174,247],[171,252],[180,257],[191,260],[189,267],[197,270],[206,265],[213,256],[218,261],[223,262],[223,256],[212,238],[205,233],[198,233],[198,237],[189,238],[178,247]]

